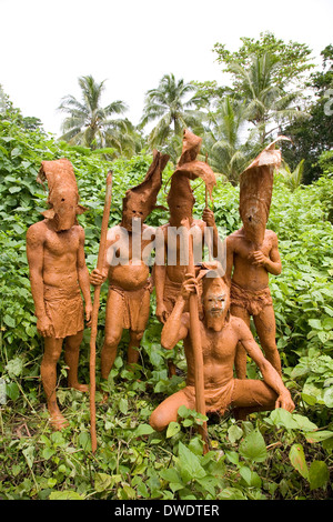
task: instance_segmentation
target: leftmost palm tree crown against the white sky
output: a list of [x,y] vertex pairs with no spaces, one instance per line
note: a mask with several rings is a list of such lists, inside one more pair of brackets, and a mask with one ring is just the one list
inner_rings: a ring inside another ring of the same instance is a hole
[[135,148],[133,126],[128,120],[113,119],[128,110],[123,101],[114,101],[101,107],[104,82],[98,83],[92,76],[79,78],[82,101],[69,94],[62,98],[58,110],[69,116],[62,123],[61,140],[70,144],[80,144],[92,150],[114,148],[122,153]]

